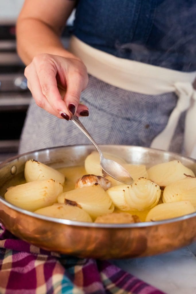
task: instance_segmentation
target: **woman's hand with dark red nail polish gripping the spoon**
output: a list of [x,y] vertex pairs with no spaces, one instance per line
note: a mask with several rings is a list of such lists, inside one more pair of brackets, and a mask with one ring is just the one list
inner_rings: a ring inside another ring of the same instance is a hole
[[39,54],[24,72],[36,104],[58,118],[88,116],[79,104],[81,91],[88,83],[86,66],[77,58]]

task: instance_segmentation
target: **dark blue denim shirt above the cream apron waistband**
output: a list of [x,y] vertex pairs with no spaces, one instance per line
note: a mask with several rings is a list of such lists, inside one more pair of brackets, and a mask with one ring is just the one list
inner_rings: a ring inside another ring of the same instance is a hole
[[196,70],[195,0],[79,0],[73,34],[117,57]]

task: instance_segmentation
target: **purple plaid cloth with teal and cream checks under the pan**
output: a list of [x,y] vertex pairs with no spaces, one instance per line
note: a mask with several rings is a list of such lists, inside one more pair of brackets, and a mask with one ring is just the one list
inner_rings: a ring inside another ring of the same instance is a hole
[[1,294],[163,294],[106,260],[48,252],[0,226]]

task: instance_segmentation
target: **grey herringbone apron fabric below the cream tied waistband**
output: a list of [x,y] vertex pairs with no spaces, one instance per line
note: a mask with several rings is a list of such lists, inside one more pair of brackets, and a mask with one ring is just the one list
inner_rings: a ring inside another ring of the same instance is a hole
[[[81,102],[88,106],[89,117],[80,120],[97,143],[149,147],[153,138],[167,125],[177,96],[175,93],[158,96],[134,93],[89,76]],[[182,152],[183,132],[184,113],[178,122],[170,151]],[[51,115],[32,99],[21,134],[19,153],[75,144],[91,142],[72,121]]]

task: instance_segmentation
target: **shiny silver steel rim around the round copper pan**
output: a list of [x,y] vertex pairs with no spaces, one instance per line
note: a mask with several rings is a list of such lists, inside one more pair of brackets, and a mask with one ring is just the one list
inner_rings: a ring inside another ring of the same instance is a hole
[[[32,153],[39,153],[39,152],[49,152],[52,150],[58,150],[61,148],[85,148],[86,146],[88,147],[93,147],[93,145],[71,145],[71,146],[59,146],[59,147],[52,147],[52,148],[46,148],[46,149],[40,149],[40,150],[36,150],[36,151],[30,151],[27,153],[23,153],[23,154],[19,154],[17,156],[11,157],[9,159],[7,159],[6,161],[2,162],[0,164],[0,169],[4,166],[6,166],[8,163],[10,163],[11,161],[17,160],[19,158],[21,158],[22,156],[28,156]],[[140,146],[130,146],[130,145],[100,145],[101,148],[107,147],[118,147],[120,146],[121,148],[134,148],[135,150],[139,151],[139,150],[143,150],[143,151],[156,151],[157,153],[165,153],[168,155],[173,155],[174,157],[177,156],[179,158],[184,158],[187,160],[191,160],[191,161],[195,161],[196,160],[186,157],[186,156],[182,156],[178,153],[174,153],[174,152],[167,152],[167,151],[163,151],[163,150],[159,150],[159,149],[152,149],[152,148],[148,148],[148,147],[140,147]],[[42,220],[46,220],[49,222],[53,222],[53,223],[61,223],[61,224],[65,224],[65,225],[71,225],[71,226],[81,226],[81,227],[93,227],[93,228],[143,228],[143,227],[150,227],[150,226],[155,226],[155,225],[161,225],[161,224],[166,224],[166,223],[174,223],[174,222],[178,222],[178,221],[182,221],[182,220],[186,220],[189,218],[194,218],[196,216],[196,212],[194,213],[190,213],[188,215],[185,216],[181,216],[181,217],[177,217],[177,218],[171,218],[171,219],[167,219],[167,220],[159,220],[159,221],[152,221],[152,222],[141,222],[141,223],[125,223],[125,224],[103,224],[103,223],[89,223],[89,222],[79,222],[79,221],[74,221],[74,220],[66,220],[66,219],[60,219],[60,218],[53,218],[53,217],[48,217],[48,216],[43,216],[40,215],[38,213],[33,213],[31,211],[27,211],[24,210],[22,208],[19,208],[17,206],[14,206],[13,204],[9,203],[8,201],[6,201],[2,196],[0,196],[0,202],[2,202],[4,205],[8,206],[9,208],[18,211],[20,213],[32,216],[34,218],[38,218],[38,219],[42,219]]]

